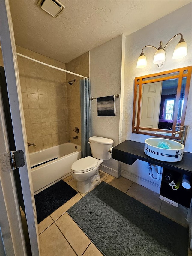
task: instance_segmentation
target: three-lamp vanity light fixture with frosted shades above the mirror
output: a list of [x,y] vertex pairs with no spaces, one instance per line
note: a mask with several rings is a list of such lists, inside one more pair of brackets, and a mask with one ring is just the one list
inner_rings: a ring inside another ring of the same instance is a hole
[[[177,35],[181,35],[181,39],[179,40],[179,43],[175,47],[175,50],[173,52],[173,59],[180,59],[187,55],[187,44],[183,39],[183,35],[181,33]],[[175,38],[177,35],[172,37],[170,41],[173,38]],[[170,41],[165,45],[165,47],[167,47]],[[145,47],[143,47],[143,49],[145,49],[146,47],[153,47],[156,50],[153,63],[156,64],[158,67],[161,67],[165,61],[165,47],[163,48],[163,42],[162,41],[160,42],[160,46],[158,49],[153,45],[146,45]],[[147,66],[147,59],[143,53],[143,49],[137,60],[137,68],[145,68]],[[161,65],[158,65],[158,64],[161,64]]]

